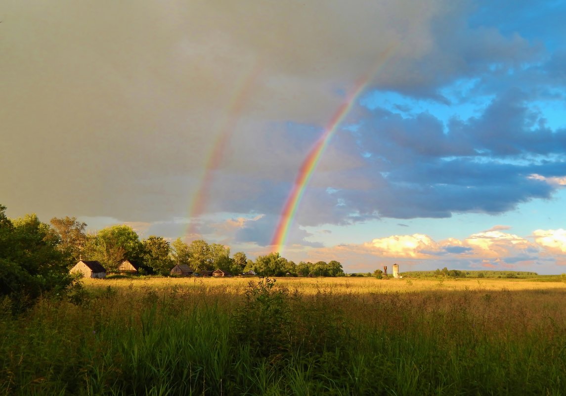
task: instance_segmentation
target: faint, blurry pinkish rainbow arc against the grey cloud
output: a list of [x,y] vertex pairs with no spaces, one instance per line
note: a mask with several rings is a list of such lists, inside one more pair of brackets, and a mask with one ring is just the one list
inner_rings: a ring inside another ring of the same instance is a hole
[[260,75],[260,70],[260,63],[256,62],[255,67],[250,71],[250,73],[239,81],[237,89],[235,89],[234,95],[229,102],[228,110],[226,111],[227,115],[219,128],[220,132],[217,134],[212,150],[207,156],[207,160],[204,165],[204,173],[200,180],[199,187],[196,189],[196,193],[191,201],[188,214],[190,223],[187,227],[187,235],[195,233],[195,219],[204,212],[212,185],[213,173],[216,169],[218,169],[222,162],[222,158],[224,158],[226,147],[228,147],[228,144],[230,143],[232,133],[235,130],[238,119],[248,97],[250,96],[250,91],[252,87],[254,87],[255,81]]

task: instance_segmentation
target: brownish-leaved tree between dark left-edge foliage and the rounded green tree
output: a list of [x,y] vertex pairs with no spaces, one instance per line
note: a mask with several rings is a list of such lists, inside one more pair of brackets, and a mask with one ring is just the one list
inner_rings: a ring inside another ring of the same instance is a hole
[[67,266],[70,269],[81,259],[83,254],[87,243],[87,234],[84,232],[87,223],[78,221],[76,217],[68,216],[65,218],[54,217],[50,223],[61,240],[59,249],[69,256]]

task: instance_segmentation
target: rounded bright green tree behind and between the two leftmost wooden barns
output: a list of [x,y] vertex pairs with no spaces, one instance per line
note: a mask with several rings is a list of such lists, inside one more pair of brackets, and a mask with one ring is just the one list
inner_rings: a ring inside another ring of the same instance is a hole
[[107,271],[115,271],[123,260],[140,261],[143,245],[130,226],[106,227],[89,236],[85,248],[86,260],[98,260]]

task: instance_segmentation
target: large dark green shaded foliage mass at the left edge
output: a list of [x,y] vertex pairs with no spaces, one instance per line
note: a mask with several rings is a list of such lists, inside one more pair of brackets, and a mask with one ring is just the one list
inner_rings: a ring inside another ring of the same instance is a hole
[[0,295],[19,311],[44,292],[65,294],[73,284],[59,236],[35,214],[10,221],[0,205]]

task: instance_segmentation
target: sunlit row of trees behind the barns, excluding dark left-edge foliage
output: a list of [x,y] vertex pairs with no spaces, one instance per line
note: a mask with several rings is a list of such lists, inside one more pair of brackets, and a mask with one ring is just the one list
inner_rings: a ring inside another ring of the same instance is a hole
[[[246,253],[237,252],[230,257],[230,248],[218,243],[207,243],[197,239],[185,243],[177,238],[173,243],[162,236],[151,235],[139,240],[138,234],[129,226],[106,227],[94,235],[84,233],[85,223],[76,218],[51,221],[61,236],[61,248],[70,253],[74,264],[80,257],[97,260],[110,272],[116,270],[125,259],[135,262],[148,273],[168,274],[176,264],[186,264],[192,269],[221,269],[232,274],[254,270],[261,276],[344,276],[340,262],[318,261],[295,264],[279,253],[258,256],[255,261],[248,260]],[[63,243],[64,241],[64,243]]]

